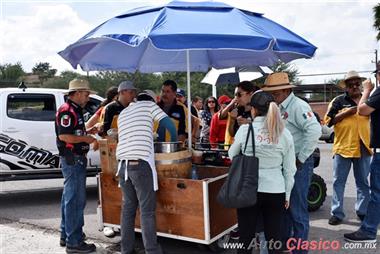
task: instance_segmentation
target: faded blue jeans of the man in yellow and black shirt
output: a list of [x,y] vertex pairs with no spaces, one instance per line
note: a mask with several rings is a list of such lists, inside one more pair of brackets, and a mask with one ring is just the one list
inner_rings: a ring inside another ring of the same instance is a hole
[[350,173],[351,163],[353,164],[354,177],[356,183],[356,204],[355,211],[358,215],[367,213],[369,202],[369,163],[371,156],[365,151],[362,152],[361,158],[344,158],[339,154],[334,156],[334,182],[333,195],[331,199],[331,215],[343,220],[345,217],[343,211],[344,188],[347,177]]

